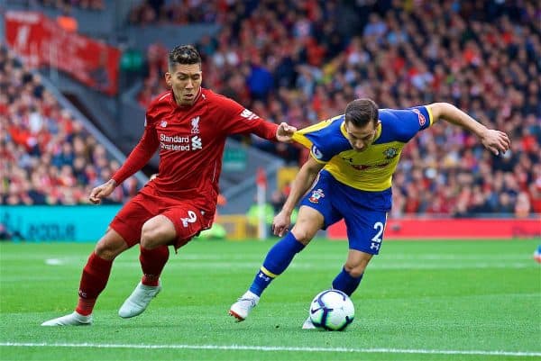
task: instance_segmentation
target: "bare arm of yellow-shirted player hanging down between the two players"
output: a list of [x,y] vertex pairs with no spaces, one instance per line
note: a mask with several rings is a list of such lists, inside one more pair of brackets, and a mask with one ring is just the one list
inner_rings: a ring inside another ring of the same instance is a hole
[[291,223],[291,213],[298,203],[298,200],[303,194],[307,193],[308,188],[314,183],[317,173],[323,168],[325,164],[318,163],[312,157],[308,158],[307,162],[300,168],[293,185],[291,185],[291,192],[282,210],[274,217],[272,221],[272,230],[274,235],[282,237],[284,233],[289,229]]

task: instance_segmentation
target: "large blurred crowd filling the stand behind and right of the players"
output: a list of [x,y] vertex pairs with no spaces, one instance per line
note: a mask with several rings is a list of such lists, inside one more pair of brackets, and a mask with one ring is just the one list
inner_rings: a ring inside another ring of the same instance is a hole
[[[149,10],[156,15],[151,22],[179,21],[170,11],[177,3],[147,3],[158,5]],[[205,2],[209,11],[198,20],[223,28],[197,44],[204,86],[298,128],[343,113],[359,97],[371,97],[381,108],[455,104],[487,127],[508,132],[512,150],[492,156],[472,134],[436,124],[403,152],[393,216],[541,213],[538,2],[352,3]],[[148,50],[142,106],[165,90],[167,51],[160,43]],[[251,141],[290,165],[307,157],[295,146]]]

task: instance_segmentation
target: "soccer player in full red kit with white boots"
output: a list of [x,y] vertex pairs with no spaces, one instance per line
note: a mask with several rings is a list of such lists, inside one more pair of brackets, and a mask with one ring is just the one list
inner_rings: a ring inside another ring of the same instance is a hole
[[83,269],[75,311],[42,326],[91,324],[113,260],[137,243],[142,280],[118,314],[123,318],[141,314],[160,292],[168,246],[178,249],[212,224],[226,137],[253,133],[290,141],[296,131],[286,123],[265,122],[233,100],[202,88],[201,58],[192,46],[170,52],[165,79],[171,90],[150,104],[139,144],[111,180],[92,190],[89,200],[100,203],[145,166],[156,149],[160,149],[159,176],[124,205],[97,242]]

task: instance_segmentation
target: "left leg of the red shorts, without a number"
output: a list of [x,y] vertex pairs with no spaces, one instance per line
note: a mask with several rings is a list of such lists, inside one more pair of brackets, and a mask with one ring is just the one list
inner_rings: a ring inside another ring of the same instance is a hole
[[115,219],[109,225],[122,236],[130,247],[141,240],[143,223],[156,215],[148,207],[142,206],[143,199],[142,194],[134,196],[130,202],[124,204],[120,212],[116,213]]

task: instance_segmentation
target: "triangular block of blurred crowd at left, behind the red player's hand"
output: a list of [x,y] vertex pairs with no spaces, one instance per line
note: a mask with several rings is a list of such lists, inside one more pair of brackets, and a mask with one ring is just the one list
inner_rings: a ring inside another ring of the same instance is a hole
[[[0,204],[88,203],[90,189],[119,167],[103,145],[24,68],[0,48]],[[105,203],[137,192],[130,178]]]

